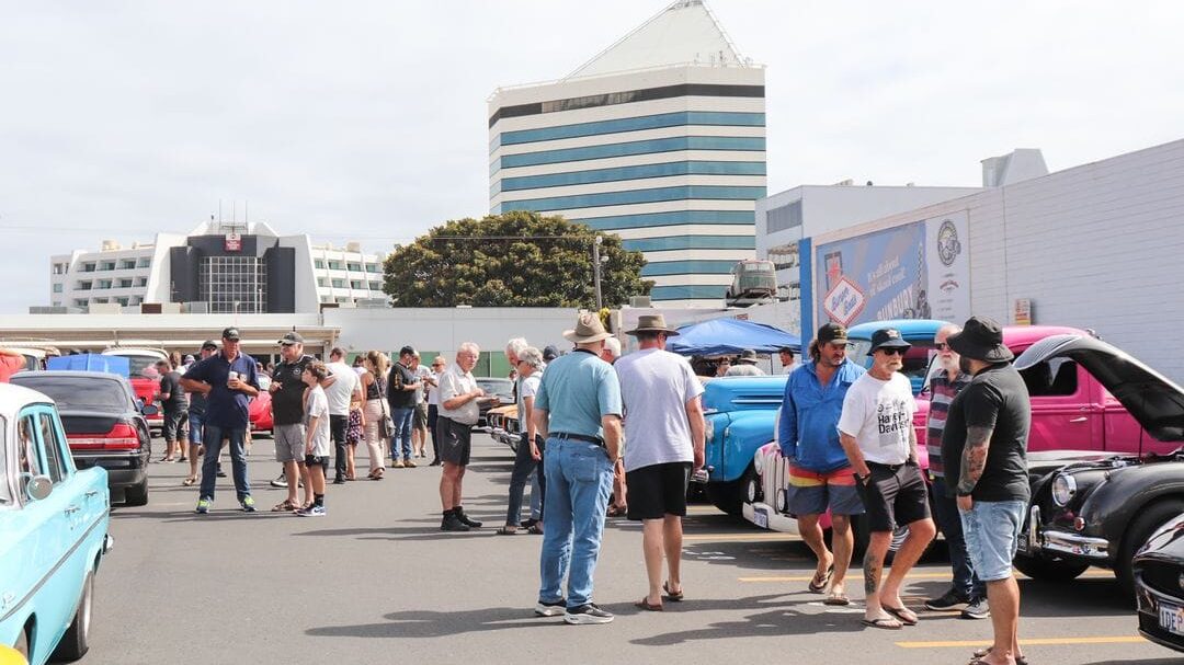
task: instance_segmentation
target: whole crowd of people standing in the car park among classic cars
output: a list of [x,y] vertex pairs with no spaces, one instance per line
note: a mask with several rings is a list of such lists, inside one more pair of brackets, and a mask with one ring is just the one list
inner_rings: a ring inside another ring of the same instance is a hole
[[[542,535],[535,613],[562,615],[570,624],[613,619],[593,602],[605,517],[613,511],[642,523],[649,583],[637,607],[658,612],[664,602],[684,598],[682,518],[689,478],[704,464],[703,387],[686,359],[665,350],[678,332],[661,315],[642,316],[626,332],[636,337],[638,350],[622,356],[599,317],[585,314],[564,334],[571,353],[539,350],[525,338],[510,340],[504,349],[522,440],[497,534]],[[941,372],[932,382],[927,424],[931,482],[919,464],[910,383],[900,373],[910,346],[899,331],[873,335],[869,369],[848,357],[847,331],[835,323],[817,330],[800,363],[793,362],[792,349],[781,350],[781,363],[791,370],[777,440],[789,465],[787,510],[817,559],[807,589],[823,594],[826,605],[851,603],[845,587],[855,550],[851,522],[866,515],[870,536],[862,561],[862,621],[884,630],[915,625],[916,612],[906,606],[901,587],[940,525],[950,542],[953,585],[926,607],[960,609],[967,619],[990,616],[995,644],[977,652],[976,661],[1023,663],[1019,592],[1010,561],[1029,491],[1027,388],[1009,362],[997,323],[972,317],[965,328],[942,328],[934,342]],[[440,529],[481,528],[464,510],[463,484],[481,405],[496,398],[487,396],[472,375],[477,346],[462,343],[453,363],[436,357],[427,369],[412,347],[400,349],[391,367],[385,354],[369,351],[352,368],[341,349],[322,363],[303,354],[302,343],[296,332],[284,335],[282,362],[271,373],[276,458],[288,486],[288,498],[275,510],[324,515],[330,441],[333,483],[343,484],[355,477],[353,447],[360,440],[369,448],[368,477],[377,480],[385,473],[387,441],[393,466],[413,467],[425,457],[430,435],[431,464],[442,466]],[[220,349],[206,342],[200,354],[184,374],[161,367],[167,456],[174,444],[182,457],[188,453],[186,484],[200,477],[197,510],[206,512],[214,499],[218,456],[229,445],[238,499],[253,511],[243,446],[246,403],[259,390],[260,369],[239,351],[234,328],[223,331]],[[738,359],[739,366],[754,362],[755,354],[747,351]],[[187,402],[180,399],[185,393]],[[175,440],[182,413],[188,415],[188,447]],[[528,482],[538,503],[530,519],[520,521]],[[929,514],[931,491],[935,516]],[[829,547],[824,516],[832,531]],[[902,527],[907,536],[886,573],[894,534]]]

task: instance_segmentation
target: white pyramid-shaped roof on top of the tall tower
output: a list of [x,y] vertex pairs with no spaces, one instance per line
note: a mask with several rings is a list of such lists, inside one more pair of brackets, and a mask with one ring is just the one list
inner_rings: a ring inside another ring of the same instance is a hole
[[566,78],[682,64],[752,66],[703,0],[676,0]]

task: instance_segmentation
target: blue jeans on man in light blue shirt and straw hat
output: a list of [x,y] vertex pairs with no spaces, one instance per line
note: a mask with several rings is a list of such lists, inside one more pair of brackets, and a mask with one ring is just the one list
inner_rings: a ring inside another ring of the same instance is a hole
[[564,598],[567,607],[592,602],[592,575],[600,555],[604,514],[612,492],[612,463],[596,444],[547,439],[547,499],[542,511],[539,600]]

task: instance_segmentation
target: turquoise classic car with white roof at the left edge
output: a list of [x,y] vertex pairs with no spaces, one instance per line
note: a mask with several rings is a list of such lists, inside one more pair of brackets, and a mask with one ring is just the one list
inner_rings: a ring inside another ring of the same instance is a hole
[[0,645],[34,665],[86,653],[110,504],[107,471],[75,469],[53,400],[0,383]]

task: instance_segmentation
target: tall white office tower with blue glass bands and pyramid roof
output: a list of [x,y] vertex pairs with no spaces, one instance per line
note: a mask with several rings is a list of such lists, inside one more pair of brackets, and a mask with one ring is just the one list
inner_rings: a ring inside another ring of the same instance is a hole
[[718,305],[754,258],[765,71],[678,0],[558,82],[489,99],[493,213],[561,214],[645,253],[655,305]]

